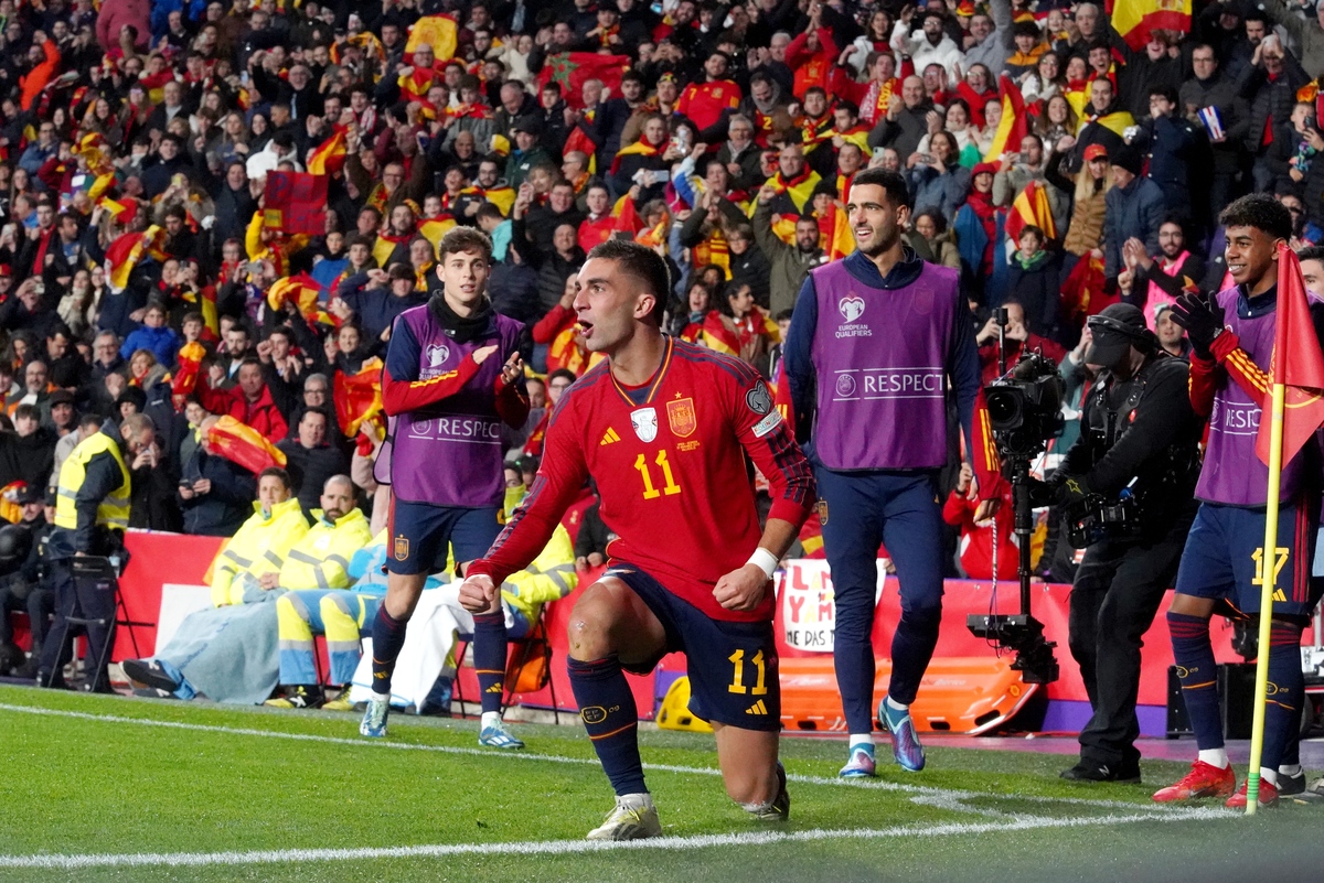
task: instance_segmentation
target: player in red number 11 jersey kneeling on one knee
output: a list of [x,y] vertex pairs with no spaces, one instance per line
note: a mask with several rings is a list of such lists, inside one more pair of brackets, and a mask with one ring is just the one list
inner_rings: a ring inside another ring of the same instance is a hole
[[[771,578],[814,500],[809,463],[749,366],[662,334],[671,286],[655,252],[605,242],[579,284],[585,342],[608,361],[561,395],[534,486],[470,566],[461,603],[498,611],[502,580],[543,549],[592,476],[618,539],[569,620],[575,699],[616,789],[589,838],[662,833],[624,672],[646,673],[673,650],[688,658],[690,710],[712,723],[727,793],[757,818],[784,820]],[[761,537],[745,453],[771,484]]]

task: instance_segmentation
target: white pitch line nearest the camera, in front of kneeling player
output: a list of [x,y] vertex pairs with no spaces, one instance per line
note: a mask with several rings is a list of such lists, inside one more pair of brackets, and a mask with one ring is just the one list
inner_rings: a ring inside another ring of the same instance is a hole
[[445,858],[450,855],[583,855],[618,850],[690,850],[719,846],[769,846],[831,839],[888,839],[895,837],[955,837],[1053,827],[1096,827],[1135,822],[1178,822],[1233,818],[1237,813],[1215,808],[1188,808],[1162,816],[1132,813],[1074,818],[1019,818],[1012,822],[899,825],[880,829],[812,829],[806,831],[755,831],[747,834],[700,834],[655,837],[642,841],[523,841],[511,843],[438,843],[426,846],[252,850],[246,853],[91,853],[83,855],[0,855],[0,868],[81,870],[91,867],[203,867],[217,864],[274,864],[290,862],[361,862],[364,859]]

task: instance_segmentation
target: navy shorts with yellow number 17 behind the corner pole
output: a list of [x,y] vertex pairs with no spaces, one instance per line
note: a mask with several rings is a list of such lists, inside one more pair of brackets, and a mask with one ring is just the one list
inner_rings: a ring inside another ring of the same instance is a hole
[[[1282,506],[1274,570],[1274,613],[1309,616],[1313,506]],[[1264,510],[1200,504],[1177,571],[1177,592],[1223,601],[1233,615],[1259,613]]]

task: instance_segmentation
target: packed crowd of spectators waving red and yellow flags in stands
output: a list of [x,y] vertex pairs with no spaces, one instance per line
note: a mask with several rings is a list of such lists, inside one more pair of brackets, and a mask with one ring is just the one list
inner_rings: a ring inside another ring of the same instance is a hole
[[[512,475],[594,364],[575,274],[608,238],[669,260],[671,333],[776,383],[806,272],[853,250],[866,167],[907,176],[908,246],[963,272],[986,378],[1001,332],[1010,361],[1059,361],[1079,406],[1103,307],[1141,307],[1185,353],[1165,308],[1223,286],[1230,200],[1271,192],[1294,247],[1324,241],[1324,0],[1192,12],[1158,29],[1062,0],[0,0],[4,514],[40,529],[78,440],[143,412],[132,527],[234,534],[266,457],[305,516],[351,475],[380,529],[372,385],[455,225],[493,238],[491,301],[527,325]],[[315,231],[271,222],[269,177],[291,172],[324,188]],[[948,472],[955,550],[976,527],[956,452]],[[594,513],[580,567],[602,559]],[[990,545],[960,567],[986,575]]]

